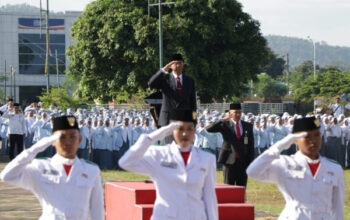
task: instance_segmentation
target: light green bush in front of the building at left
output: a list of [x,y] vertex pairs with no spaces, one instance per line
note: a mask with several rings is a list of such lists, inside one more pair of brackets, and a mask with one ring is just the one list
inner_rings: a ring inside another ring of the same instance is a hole
[[67,109],[69,107],[78,108],[82,102],[86,101],[83,98],[70,96],[65,88],[51,88],[49,93],[44,89],[39,99],[46,108],[50,104],[54,104],[60,109]]

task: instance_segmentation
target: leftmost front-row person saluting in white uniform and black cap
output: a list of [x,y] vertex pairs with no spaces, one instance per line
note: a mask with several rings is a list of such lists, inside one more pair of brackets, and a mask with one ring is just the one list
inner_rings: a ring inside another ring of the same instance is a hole
[[[52,132],[12,160],[1,179],[33,192],[43,208],[40,220],[104,219],[100,170],[76,157],[81,142],[76,118],[55,118]],[[34,159],[51,144],[57,154]]]

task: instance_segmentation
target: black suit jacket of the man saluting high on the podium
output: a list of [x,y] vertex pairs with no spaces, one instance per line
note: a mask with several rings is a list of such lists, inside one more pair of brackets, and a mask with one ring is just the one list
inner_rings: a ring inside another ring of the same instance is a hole
[[169,124],[169,111],[172,109],[190,109],[196,111],[196,90],[194,80],[182,74],[182,98],[179,97],[173,75],[165,74],[161,70],[148,81],[148,86],[160,89],[163,94],[162,107],[158,120],[159,126]]

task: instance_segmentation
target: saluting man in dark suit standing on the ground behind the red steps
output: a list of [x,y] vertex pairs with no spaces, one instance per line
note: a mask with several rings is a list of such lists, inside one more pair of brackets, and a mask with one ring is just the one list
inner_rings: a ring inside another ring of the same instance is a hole
[[218,162],[223,164],[224,182],[247,186],[246,169],[254,159],[254,136],[253,126],[242,121],[241,114],[241,104],[232,103],[228,115],[206,129],[223,136]]

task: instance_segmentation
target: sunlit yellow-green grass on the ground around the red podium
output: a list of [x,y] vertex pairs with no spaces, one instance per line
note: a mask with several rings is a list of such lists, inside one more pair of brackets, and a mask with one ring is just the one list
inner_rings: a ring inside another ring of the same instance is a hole
[[[345,219],[350,219],[350,170],[345,170],[346,196],[345,196]],[[222,171],[217,172],[218,182],[223,183]],[[125,171],[103,171],[103,180],[107,181],[144,181],[148,179],[134,173]],[[284,207],[284,199],[277,187],[273,184],[248,180],[247,202],[255,205],[257,210],[279,214]]]

